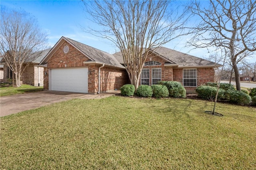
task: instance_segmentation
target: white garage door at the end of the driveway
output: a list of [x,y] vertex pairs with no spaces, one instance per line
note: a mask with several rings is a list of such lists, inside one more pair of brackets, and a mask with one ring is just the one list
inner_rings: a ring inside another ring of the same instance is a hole
[[88,68],[51,70],[50,90],[88,93]]

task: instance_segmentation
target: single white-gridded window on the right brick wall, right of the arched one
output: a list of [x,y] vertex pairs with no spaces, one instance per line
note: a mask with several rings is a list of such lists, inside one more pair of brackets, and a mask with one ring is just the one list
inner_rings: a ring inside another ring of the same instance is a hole
[[183,86],[196,87],[197,70],[183,69]]

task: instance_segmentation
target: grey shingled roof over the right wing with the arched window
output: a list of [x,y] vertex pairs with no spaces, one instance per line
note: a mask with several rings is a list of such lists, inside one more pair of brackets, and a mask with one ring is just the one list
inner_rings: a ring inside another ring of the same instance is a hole
[[[220,64],[214,63],[212,61],[168,49],[166,47],[155,47],[151,50],[156,55],[159,55],[159,57],[165,59],[168,63],[178,64],[178,67],[221,66]],[[121,52],[115,53],[113,55],[120,63],[124,63]]]

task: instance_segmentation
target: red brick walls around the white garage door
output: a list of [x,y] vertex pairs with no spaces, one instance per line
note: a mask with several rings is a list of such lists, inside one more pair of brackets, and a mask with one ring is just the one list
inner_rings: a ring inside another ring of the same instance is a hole
[[[63,48],[68,45],[69,52],[64,53]],[[67,42],[64,42],[57,51],[48,60],[47,68],[44,68],[46,76],[44,76],[44,89],[49,89],[49,69],[51,68],[76,68],[88,67],[88,93],[96,94],[98,92],[98,68],[101,64],[84,64],[88,58],[80,51]],[[104,66],[101,68],[101,92],[113,91],[120,89],[124,84],[128,83],[128,75],[126,70]]]

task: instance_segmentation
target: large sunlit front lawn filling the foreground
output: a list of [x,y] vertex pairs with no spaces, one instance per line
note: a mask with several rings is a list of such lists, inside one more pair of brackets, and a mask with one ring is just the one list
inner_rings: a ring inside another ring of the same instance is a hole
[[255,169],[256,108],[113,96],[1,118],[0,169]]

